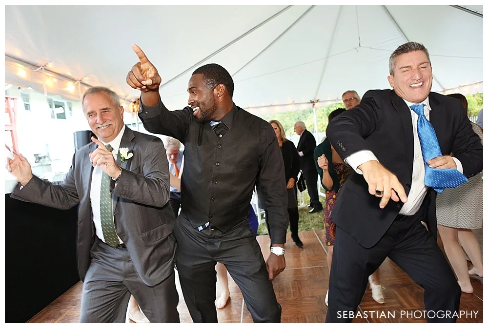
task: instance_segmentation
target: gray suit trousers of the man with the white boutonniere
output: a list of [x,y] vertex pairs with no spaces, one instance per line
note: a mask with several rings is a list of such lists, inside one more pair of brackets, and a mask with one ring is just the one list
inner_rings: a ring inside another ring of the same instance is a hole
[[174,272],[149,287],[139,278],[127,249],[114,249],[97,238],[91,256],[83,282],[81,323],[125,323],[131,294],[151,323],[180,322]]

